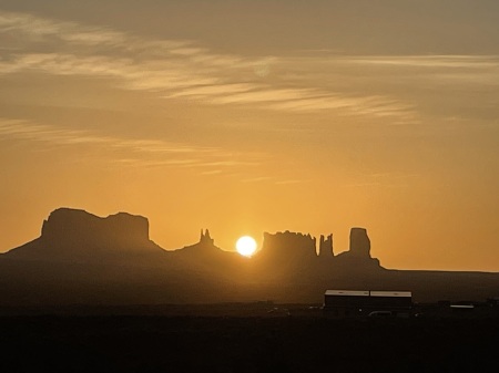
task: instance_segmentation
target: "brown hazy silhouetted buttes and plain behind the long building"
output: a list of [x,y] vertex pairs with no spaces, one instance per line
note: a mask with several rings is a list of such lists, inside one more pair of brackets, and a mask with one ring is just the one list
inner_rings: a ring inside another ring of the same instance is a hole
[[162,304],[273,300],[319,303],[327,289],[411,291],[416,301],[483,300],[499,293],[499,273],[389,270],[370,256],[364,228],[334,255],[333,235],[264,234],[251,259],[200,241],[166,251],[149,221],[120,213],[100,218],[52,211],[41,236],[0,255],[0,305]]

